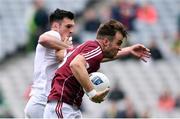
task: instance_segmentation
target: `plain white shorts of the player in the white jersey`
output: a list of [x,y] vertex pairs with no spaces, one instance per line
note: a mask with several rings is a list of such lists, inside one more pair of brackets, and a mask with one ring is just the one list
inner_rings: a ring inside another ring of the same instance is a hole
[[24,109],[25,118],[43,118],[45,104],[38,103],[35,96],[31,96]]

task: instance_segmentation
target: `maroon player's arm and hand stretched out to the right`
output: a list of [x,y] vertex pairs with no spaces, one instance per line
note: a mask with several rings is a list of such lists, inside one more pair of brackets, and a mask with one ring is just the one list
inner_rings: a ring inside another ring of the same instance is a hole
[[112,61],[112,60],[121,58],[123,56],[129,55],[129,54],[143,60],[144,62],[146,62],[146,59],[150,58],[151,56],[150,50],[148,48],[146,48],[142,44],[135,44],[135,45],[120,49],[114,58],[112,59],[105,58],[103,59],[103,62]]

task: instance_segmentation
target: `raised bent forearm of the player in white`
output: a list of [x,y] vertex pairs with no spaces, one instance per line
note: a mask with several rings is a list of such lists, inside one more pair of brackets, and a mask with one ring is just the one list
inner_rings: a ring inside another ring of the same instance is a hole
[[41,35],[38,41],[42,46],[55,50],[68,48],[69,45],[49,35]]

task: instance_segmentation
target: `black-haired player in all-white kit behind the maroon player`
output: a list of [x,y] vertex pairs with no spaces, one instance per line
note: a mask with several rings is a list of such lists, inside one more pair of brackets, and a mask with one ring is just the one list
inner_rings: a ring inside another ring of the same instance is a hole
[[[63,58],[63,56],[57,57],[56,51],[71,45],[74,24],[74,14],[69,11],[56,9],[50,15],[51,30],[39,37],[36,47],[34,79],[30,99],[24,109],[26,118],[43,118],[51,82],[60,64],[58,59]],[[67,38],[70,39],[69,42]]]

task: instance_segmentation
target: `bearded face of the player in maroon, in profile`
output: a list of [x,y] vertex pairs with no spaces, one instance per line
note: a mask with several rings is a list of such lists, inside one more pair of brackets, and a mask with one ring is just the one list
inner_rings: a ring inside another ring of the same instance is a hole
[[116,56],[119,50],[121,50],[120,46],[123,42],[123,36],[120,32],[117,32],[113,41],[109,41],[106,50],[105,50],[105,57],[106,58],[113,58]]

